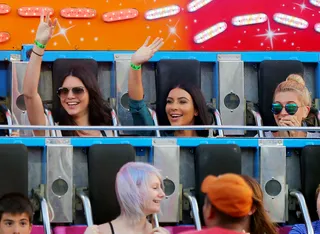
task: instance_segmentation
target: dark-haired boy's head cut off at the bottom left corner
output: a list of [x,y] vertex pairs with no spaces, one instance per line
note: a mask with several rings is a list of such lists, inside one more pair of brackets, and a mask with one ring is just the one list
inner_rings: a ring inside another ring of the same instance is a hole
[[0,198],[0,234],[30,234],[33,208],[30,200],[19,193]]

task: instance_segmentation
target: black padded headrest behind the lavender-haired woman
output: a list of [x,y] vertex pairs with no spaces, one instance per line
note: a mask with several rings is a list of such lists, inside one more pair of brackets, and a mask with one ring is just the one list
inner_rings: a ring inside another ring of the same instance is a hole
[[132,145],[92,145],[88,154],[89,191],[95,224],[109,222],[120,214],[115,181],[120,168],[135,161]]

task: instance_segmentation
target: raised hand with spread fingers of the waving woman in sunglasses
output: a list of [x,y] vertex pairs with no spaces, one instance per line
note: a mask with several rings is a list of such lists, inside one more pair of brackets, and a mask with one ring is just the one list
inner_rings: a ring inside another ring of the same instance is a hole
[[57,19],[55,19],[52,22],[50,19],[49,12],[45,17],[44,11],[42,10],[41,16],[40,16],[40,23],[39,23],[37,34],[36,34],[36,41],[38,41],[42,45],[46,45],[50,40],[50,38],[52,37],[53,31],[56,25],[57,25]]

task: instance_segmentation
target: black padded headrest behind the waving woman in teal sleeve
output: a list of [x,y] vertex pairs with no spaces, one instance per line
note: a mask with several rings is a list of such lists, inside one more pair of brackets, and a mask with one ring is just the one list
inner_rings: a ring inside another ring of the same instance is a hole
[[156,71],[157,117],[159,125],[169,125],[165,112],[168,93],[183,83],[192,83],[201,89],[200,62],[192,59],[162,59]]

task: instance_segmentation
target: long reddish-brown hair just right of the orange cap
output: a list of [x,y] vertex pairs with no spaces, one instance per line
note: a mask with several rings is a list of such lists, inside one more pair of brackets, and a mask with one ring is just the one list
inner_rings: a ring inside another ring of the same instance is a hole
[[243,179],[248,183],[253,191],[253,204],[252,208],[255,209],[254,213],[250,217],[250,234],[277,234],[277,226],[272,223],[269,215],[265,211],[263,205],[263,193],[260,184],[252,177],[247,175],[241,175]]

